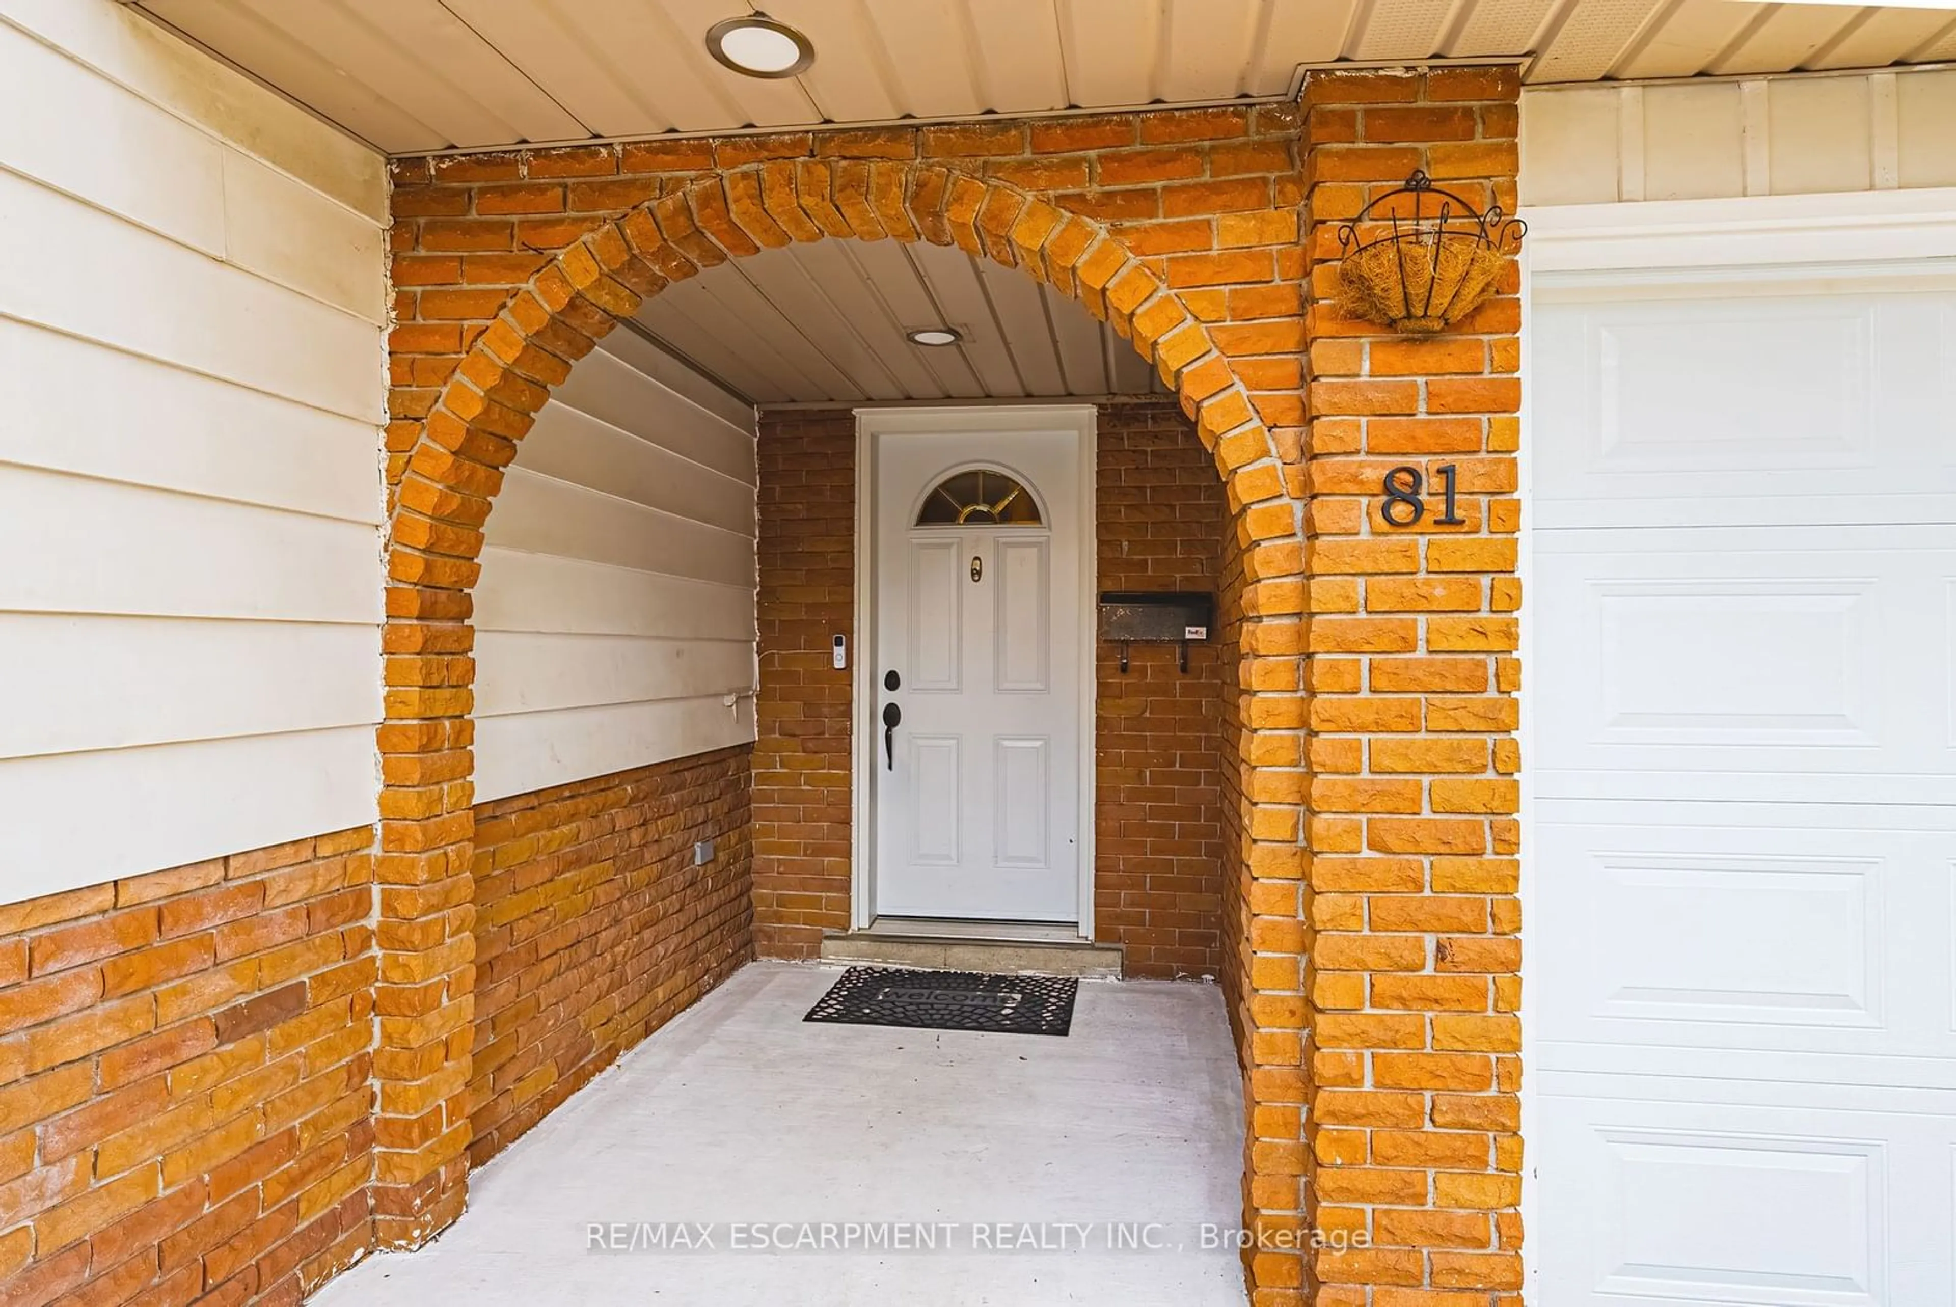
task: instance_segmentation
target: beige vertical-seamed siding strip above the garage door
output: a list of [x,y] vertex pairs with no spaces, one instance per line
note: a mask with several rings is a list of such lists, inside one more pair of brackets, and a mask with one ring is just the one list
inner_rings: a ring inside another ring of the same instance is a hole
[[1522,203],[1956,186],[1956,68],[1522,92]]

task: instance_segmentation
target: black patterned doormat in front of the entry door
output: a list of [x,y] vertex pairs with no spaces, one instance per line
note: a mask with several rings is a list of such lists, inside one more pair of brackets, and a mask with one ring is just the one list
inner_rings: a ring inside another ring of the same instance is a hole
[[910,1025],[931,1031],[1064,1035],[1074,1027],[1072,976],[988,976],[976,970],[851,967],[804,1021]]

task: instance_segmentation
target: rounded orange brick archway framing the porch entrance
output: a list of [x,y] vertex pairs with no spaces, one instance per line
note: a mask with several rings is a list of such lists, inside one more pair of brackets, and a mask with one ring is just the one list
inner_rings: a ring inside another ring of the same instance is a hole
[[[571,366],[671,282],[761,248],[823,237],[929,241],[1023,268],[1109,321],[1178,393],[1228,491],[1240,581],[1232,859],[1244,900],[1224,955],[1252,1062],[1250,957],[1289,953],[1275,998],[1295,1010],[1295,941],[1250,937],[1254,884],[1297,918],[1303,800],[1303,513],[1273,432],[1187,297],[1105,221],[1019,186],[915,160],[773,160],[722,168],[595,225],[507,297],[467,344],[389,473],[381,753],[379,1113],[381,1246],[415,1246],[466,1197],[473,1017],[473,632],[483,526],[518,442]],[[399,423],[397,423],[399,428]],[[1226,873],[1228,875],[1228,873]],[[1258,912],[1267,912],[1264,904]],[[1281,1055],[1279,1055],[1281,1062]],[[1262,1072],[1260,1072],[1262,1074]],[[1297,1098],[1301,1072],[1273,1066]],[[1254,1137],[1254,1133],[1252,1133]],[[1262,1172],[1269,1174],[1262,1174]],[[1297,1160],[1254,1152],[1246,1197],[1295,1211]]]

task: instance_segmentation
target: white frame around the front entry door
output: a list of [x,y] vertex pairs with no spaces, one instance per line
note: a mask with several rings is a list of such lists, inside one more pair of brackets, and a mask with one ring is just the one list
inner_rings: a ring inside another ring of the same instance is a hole
[[[1093,511],[1097,479],[1095,421],[1089,403],[1066,405],[968,405],[927,409],[857,409],[855,475],[855,648],[849,677],[849,927],[868,929],[876,920],[876,732],[867,728],[867,704],[876,702],[876,436],[1046,430],[1072,434],[1080,448],[1080,937],[1093,939],[1093,753],[1095,753],[1095,648],[1099,626],[1097,573],[1099,524]],[[1058,577],[1054,577],[1058,579]],[[1001,927],[1009,929],[1009,927]]]

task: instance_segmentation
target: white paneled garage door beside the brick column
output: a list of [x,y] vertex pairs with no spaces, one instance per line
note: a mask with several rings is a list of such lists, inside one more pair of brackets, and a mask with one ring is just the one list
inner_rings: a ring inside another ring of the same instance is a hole
[[1530,1301],[1956,1303],[1956,276],[1537,278]]

